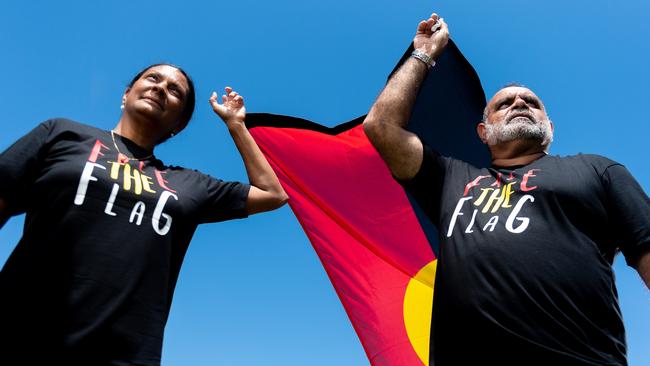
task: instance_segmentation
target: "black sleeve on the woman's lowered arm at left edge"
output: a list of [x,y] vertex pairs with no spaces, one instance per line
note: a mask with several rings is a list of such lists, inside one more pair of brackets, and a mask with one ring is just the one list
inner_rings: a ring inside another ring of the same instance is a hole
[[0,197],[11,215],[26,211],[26,192],[38,177],[54,122],[39,124],[0,154]]

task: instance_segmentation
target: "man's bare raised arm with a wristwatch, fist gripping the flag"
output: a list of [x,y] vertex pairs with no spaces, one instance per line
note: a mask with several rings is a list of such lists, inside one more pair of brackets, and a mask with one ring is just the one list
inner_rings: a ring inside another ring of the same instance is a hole
[[410,179],[422,163],[422,142],[406,130],[415,98],[433,61],[449,40],[447,24],[432,14],[418,24],[415,51],[393,74],[363,122],[363,128],[393,175]]

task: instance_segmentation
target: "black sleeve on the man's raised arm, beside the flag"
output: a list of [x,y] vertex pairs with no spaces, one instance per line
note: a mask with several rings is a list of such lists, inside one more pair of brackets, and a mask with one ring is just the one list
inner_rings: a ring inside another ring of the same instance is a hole
[[397,179],[406,192],[412,195],[420,208],[434,223],[439,220],[442,186],[448,165],[447,158],[430,146],[423,144],[422,165],[417,174],[409,180]]

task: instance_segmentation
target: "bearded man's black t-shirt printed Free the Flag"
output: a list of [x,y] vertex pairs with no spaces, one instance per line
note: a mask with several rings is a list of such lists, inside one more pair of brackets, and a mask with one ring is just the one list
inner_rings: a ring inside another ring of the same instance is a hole
[[650,250],[650,200],[622,165],[479,169],[425,146],[401,183],[439,230],[436,366],[627,363],[611,264]]

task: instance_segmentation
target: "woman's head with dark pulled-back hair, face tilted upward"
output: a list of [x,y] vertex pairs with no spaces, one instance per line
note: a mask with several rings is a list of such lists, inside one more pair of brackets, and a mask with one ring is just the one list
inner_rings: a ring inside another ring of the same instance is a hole
[[146,121],[149,131],[167,136],[178,133],[187,124],[181,121],[189,85],[185,76],[169,65],[153,66],[124,93],[124,113]]

